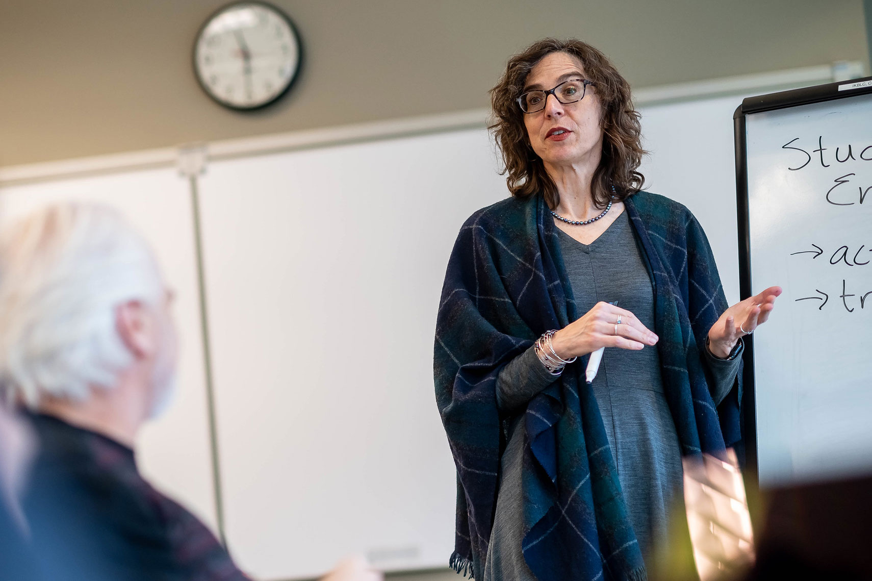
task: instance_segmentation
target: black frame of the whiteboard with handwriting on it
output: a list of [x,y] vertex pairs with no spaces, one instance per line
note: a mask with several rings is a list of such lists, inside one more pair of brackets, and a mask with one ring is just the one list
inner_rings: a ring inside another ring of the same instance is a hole
[[[739,225],[739,298],[745,300],[753,296],[753,273],[751,271],[751,227],[750,208],[748,202],[748,169],[747,169],[747,115],[787,109],[795,106],[821,103],[836,99],[850,99],[858,95],[872,93],[872,77],[852,79],[814,85],[792,91],[782,91],[748,97],[736,108],[732,116],[733,136],[736,151],[736,208]],[[744,393],[742,395],[740,417],[742,448],[739,450],[739,462],[745,475],[746,489],[753,494],[748,496],[752,522],[762,524],[757,519],[760,514],[759,492],[760,475],[757,446],[757,405],[754,386],[754,342],[753,335],[744,338],[745,353],[743,359],[745,368],[742,373]],[[742,454],[744,452],[744,454]]]

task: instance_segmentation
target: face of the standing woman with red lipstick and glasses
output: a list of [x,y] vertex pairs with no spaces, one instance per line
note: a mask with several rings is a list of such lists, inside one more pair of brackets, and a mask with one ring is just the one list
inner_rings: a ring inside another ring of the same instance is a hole
[[[552,52],[527,75],[524,92],[548,89],[568,79],[587,79],[582,63],[566,52]],[[550,165],[572,165],[589,161],[599,164],[603,151],[602,109],[596,88],[587,87],[584,99],[564,105],[548,95],[545,108],[523,113],[524,125],[533,151]],[[563,130],[563,133],[556,133]]]

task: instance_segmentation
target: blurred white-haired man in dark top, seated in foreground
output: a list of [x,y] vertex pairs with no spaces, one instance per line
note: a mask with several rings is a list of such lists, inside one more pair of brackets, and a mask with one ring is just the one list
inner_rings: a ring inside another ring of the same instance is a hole
[[[0,236],[0,386],[37,434],[24,515],[44,577],[245,579],[136,468],[136,434],[167,407],[176,358],[151,249],[92,205],[46,208]],[[329,578],[381,576],[353,561]]]

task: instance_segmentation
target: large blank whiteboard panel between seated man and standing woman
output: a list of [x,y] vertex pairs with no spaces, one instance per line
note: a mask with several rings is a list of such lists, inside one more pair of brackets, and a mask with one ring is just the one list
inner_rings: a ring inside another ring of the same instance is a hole
[[200,182],[228,545],[255,578],[446,567],[448,256],[507,195],[481,130],[216,161]]

